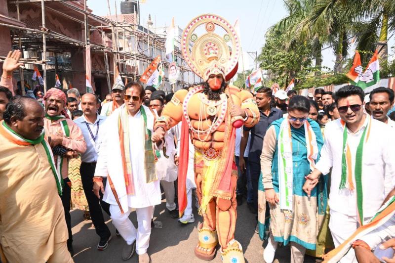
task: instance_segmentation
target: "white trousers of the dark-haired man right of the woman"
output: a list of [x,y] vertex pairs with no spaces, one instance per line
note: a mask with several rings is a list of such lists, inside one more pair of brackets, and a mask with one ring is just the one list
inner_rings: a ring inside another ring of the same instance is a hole
[[[329,229],[333,238],[335,247],[338,247],[347,240],[359,227],[356,216],[347,216],[345,214],[330,210]],[[364,218],[364,222],[370,218]],[[340,263],[356,263],[354,249],[350,251],[340,260]]]

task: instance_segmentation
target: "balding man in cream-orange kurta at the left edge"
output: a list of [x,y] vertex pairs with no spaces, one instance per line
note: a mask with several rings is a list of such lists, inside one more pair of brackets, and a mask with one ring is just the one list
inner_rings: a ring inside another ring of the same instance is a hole
[[[24,105],[25,117],[16,120],[15,110],[20,109],[20,104]],[[50,155],[47,154],[44,144],[47,149],[49,144],[43,138],[37,141],[40,127],[43,129],[43,117],[44,110],[35,99],[20,97],[8,104],[5,121],[0,122],[0,258],[3,263],[73,262],[66,245],[67,227],[58,195],[61,188],[57,189],[50,164],[53,156],[50,150]],[[14,125],[17,122],[18,127],[24,129],[17,128]]]

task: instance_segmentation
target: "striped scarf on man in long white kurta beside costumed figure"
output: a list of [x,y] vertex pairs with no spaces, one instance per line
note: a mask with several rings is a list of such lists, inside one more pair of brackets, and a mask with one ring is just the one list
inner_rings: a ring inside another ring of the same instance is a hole
[[[147,114],[143,106],[140,107],[141,115],[143,116],[144,129],[144,171],[146,174],[146,183],[158,180],[155,171],[155,153],[151,141],[151,131],[147,128]],[[132,163],[130,160],[130,144],[129,144],[129,120],[126,107],[120,109],[118,116],[118,134],[120,154],[122,158],[123,177],[125,179],[126,193],[134,195]],[[139,138],[135,138],[139,139]]]

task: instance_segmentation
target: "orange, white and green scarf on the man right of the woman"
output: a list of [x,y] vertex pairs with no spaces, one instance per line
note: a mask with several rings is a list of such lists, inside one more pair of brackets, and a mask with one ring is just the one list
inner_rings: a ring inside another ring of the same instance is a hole
[[[367,118],[367,125],[363,129],[361,138],[359,140],[358,147],[356,148],[356,158],[355,158],[355,169],[354,176],[356,182],[356,206],[358,211],[358,219],[360,224],[363,224],[363,193],[362,193],[362,158],[363,158],[363,146],[367,142],[370,134],[371,120],[369,116]],[[353,164],[352,156],[350,151],[350,146],[347,142],[348,133],[346,123],[341,120],[343,127],[343,154],[342,154],[342,177],[339,185],[339,189],[349,189],[354,190],[355,186],[353,183]]]

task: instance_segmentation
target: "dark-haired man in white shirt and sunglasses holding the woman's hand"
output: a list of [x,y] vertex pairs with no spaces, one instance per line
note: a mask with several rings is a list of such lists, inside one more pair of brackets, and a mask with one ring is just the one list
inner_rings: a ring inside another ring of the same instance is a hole
[[[376,214],[394,187],[395,152],[391,129],[363,112],[361,88],[344,86],[335,97],[340,119],[326,125],[321,157],[303,189],[310,195],[319,175],[332,168],[329,228],[338,247]],[[340,262],[356,262],[354,251]]]

